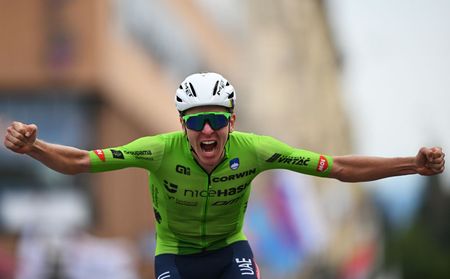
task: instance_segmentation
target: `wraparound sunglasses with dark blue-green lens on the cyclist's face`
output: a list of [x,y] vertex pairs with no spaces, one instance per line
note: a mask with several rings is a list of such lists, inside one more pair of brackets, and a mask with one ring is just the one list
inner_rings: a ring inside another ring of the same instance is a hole
[[186,127],[190,130],[200,132],[203,130],[205,123],[214,131],[220,130],[227,126],[230,122],[231,113],[229,112],[200,112],[183,116]]

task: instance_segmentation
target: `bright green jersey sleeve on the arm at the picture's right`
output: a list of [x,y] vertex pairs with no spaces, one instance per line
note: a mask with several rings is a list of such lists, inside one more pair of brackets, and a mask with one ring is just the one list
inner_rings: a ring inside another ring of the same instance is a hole
[[294,148],[269,136],[260,136],[256,149],[263,170],[287,169],[327,177],[333,167],[331,156]]

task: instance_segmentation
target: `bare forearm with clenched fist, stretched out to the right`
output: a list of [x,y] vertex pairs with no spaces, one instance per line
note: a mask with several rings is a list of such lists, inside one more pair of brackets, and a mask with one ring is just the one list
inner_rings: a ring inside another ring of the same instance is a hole
[[439,147],[422,147],[415,157],[336,156],[330,177],[363,182],[406,174],[435,175],[444,171],[444,157]]

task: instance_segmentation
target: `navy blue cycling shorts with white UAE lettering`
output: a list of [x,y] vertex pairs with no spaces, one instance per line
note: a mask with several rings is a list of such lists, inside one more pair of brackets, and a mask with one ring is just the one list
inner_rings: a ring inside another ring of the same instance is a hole
[[155,257],[157,279],[258,279],[259,270],[247,241],[192,255]]

